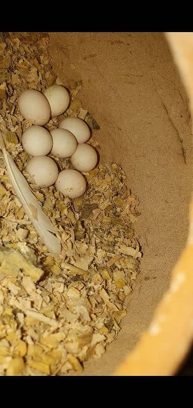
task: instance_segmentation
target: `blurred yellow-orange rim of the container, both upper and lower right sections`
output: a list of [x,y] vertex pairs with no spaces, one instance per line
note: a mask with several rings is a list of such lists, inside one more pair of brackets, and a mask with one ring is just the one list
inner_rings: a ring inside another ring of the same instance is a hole
[[[193,33],[166,33],[174,61],[189,96],[193,115]],[[170,288],[155,310],[151,325],[115,375],[172,375],[183,362],[193,339],[193,196],[188,239],[172,271]]]

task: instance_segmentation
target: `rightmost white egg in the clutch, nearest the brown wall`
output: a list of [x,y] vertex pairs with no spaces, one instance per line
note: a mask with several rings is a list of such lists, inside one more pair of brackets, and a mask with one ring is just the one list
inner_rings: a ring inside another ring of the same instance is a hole
[[76,170],[87,172],[97,164],[97,152],[90,144],[80,143],[70,160]]

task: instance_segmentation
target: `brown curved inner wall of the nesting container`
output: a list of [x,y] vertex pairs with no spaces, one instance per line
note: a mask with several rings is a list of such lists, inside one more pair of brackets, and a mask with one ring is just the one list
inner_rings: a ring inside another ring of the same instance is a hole
[[140,199],[144,257],[122,330],[85,375],[109,375],[149,325],[187,238],[191,121],[162,33],[49,33],[54,70],[82,80],[77,98],[100,125],[101,160],[121,164]]

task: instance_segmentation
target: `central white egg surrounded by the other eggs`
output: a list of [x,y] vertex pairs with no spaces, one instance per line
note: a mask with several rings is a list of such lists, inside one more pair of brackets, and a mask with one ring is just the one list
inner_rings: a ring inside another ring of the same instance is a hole
[[62,159],[72,156],[77,147],[75,136],[66,129],[54,129],[50,133],[53,139],[51,155]]

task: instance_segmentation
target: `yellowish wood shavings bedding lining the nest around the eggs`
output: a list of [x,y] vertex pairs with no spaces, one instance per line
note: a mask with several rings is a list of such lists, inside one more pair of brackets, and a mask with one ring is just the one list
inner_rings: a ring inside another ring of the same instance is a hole
[[[54,186],[40,189],[24,171],[29,158],[21,132],[32,123],[17,109],[24,89],[43,91],[51,72],[46,34],[3,33],[0,37],[0,128],[6,148],[26,177],[45,214],[57,228],[61,257],[47,252],[12,189],[0,157],[0,375],[64,375],[81,372],[120,330],[124,301],[139,273],[140,245],[133,224],[138,201],[116,164],[85,173],[86,194],[70,200]],[[72,83],[71,83],[72,84]],[[65,85],[65,84],[64,84]],[[64,116],[98,125],[74,96]],[[99,149],[94,139],[90,144]],[[56,158],[60,169],[69,159]]]

